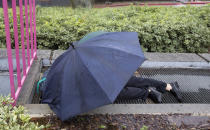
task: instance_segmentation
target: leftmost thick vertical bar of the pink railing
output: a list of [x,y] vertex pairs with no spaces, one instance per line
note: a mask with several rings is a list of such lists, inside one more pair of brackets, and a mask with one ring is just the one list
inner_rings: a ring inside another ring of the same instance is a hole
[[9,17],[8,17],[8,5],[7,5],[7,0],[3,0],[2,2],[3,2],[3,10],[4,10],[4,24],[5,24],[5,32],[6,32],[11,97],[13,99],[15,99],[15,84],[14,84],[14,76],[13,76],[13,63],[12,63],[12,50],[11,50]]

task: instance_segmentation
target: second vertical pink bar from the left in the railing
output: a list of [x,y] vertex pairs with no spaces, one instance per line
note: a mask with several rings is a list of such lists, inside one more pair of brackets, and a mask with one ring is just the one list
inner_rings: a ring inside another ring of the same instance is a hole
[[13,28],[14,28],[14,38],[15,38],[17,82],[18,82],[18,87],[21,87],[21,73],[20,73],[20,57],[19,57],[19,43],[18,43],[16,0],[12,0],[12,12],[13,12]]

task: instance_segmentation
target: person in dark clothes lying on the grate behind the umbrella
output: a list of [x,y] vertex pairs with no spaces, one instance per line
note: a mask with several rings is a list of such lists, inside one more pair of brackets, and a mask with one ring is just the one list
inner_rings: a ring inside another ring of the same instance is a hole
[[[45,71],[42,79],[39,81],[37,91],[45,89],[48,72],[49,69]],[[155,103],[162,103],[162,94],[171,92],[179,102],[182,102],[182,94],[177,82],[165,83],[155,79],[141,78],[136,75],[137,72],[129,79],[117,99],[142,99],[145,101],[147,98],[150,98]]]

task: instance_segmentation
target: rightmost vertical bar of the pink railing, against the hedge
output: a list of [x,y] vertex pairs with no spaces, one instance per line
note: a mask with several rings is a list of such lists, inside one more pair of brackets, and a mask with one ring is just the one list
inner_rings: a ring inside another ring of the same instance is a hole
[[35,58],[37,58],[37,44],[36,44],[36,0],[33,0],[33,21],[34,21],[34,50]]

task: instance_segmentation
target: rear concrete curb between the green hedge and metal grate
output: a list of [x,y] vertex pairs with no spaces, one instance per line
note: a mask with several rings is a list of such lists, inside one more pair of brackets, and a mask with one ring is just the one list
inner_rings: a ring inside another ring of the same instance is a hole
[[[6,49],[1,49],[0,71],[8,71]],[[45,67],[51,66],[54,60],[63,54],[65,50],[38,50],[38,59],[42,61]],[[148,53],[145,52],[147,61],[142,67],[166,67],[166,68],[208,68],[210,66],[210,54],[208,53]],[[13,50],[14,55],[14,50]],[[13,56],[14,57],[14,56]],[[14,71],[16,71],[16,62],[14,62]],[[21,62],[22,63],[22,62]],[[22,66],[22,65],[21,65]]]

